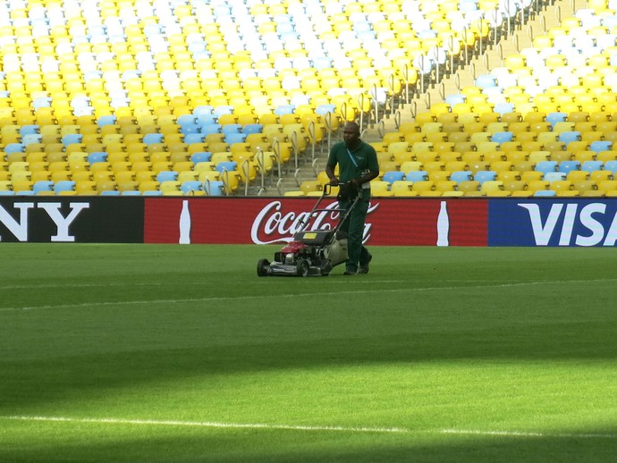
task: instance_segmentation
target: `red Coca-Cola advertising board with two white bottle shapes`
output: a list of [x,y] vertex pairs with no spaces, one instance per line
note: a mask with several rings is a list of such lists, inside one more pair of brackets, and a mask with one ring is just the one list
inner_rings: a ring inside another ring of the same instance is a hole
[[[268,244],[292,240],[313,198],[148,198],[144,242]],[[325,199],[320,208],[336,203]],[[365,240],[387,246],[486,246],[486,199],[373,198]],[[328,228],[338,213],[313,221]]]

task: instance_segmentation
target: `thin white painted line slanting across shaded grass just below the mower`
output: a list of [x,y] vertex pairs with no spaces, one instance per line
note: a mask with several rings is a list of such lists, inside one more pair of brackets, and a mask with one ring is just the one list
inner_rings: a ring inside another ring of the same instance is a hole
[[[516,288],[522,286],[538,286],[544,284],[572,284],[572,283],[591,283],[591,282],[617,282],[615,278],[603,278],[598,280],[562,280],[562,281],[545,281],[545,282],[519,282],[519,283],[499,283],[499,284],[478,284],[469,285],[463,284],[460,286],[429,286],[426,288],[392,288],[381,290],[349,290],[349,291],[321,291],[321,292],[307,292],[307,293],[290,293],[279,294],[277,298],[298,298],[298,297],[315,297],[315,296],[341,296],[348,294],[376,294],[378,292],[421,292],[432,290],[482,290],[489,288]],[[366,282],[365,282],[366,283]],[[126,301],[113,301],[113,302],[83,302],[80,304],[55,304],[46,306],[27,306],[27,307],[0,307],[0,312],[16,312],[21,310],[37,310],[48,308],[88,308],[88,307],[108,307],[108,306],[134,306],[143,304],[178,304],[184,302],[217,302],[226,300],[254,300],[254,299],[269,299],[272,298],[272,294],[255,294],[251,296],[221,296],[211,298],[191,298],[191,299],[154,299],[154,300],[126,300]]]

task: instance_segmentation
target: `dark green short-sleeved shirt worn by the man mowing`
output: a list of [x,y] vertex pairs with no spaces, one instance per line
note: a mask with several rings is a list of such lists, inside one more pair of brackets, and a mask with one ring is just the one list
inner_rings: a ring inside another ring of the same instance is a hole
[[[357,166],[351,161],[350,152],[356,164],[358,164]],[[379,172],[375,148],[362,140],[359,140],[359,145],[349,152],[344,141],[334,143],[330,149],[327,164],[333,170],[336,164],[339,165],[339,181],[342,183],[359,179],[364,171]],[[363,193],[366,198],[367,195],[370,195],[370,189],[363,189]]]

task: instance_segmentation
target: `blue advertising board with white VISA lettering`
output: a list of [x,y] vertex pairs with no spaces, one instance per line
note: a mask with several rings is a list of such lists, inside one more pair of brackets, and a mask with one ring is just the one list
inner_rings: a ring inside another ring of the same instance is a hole
[[488,246],[615,246],[616,216],[611,199],[492,199]]

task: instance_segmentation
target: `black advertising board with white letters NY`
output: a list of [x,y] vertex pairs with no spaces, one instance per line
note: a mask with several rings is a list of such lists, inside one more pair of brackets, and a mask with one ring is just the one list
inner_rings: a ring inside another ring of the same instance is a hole
[[143,198],[0,198],[0,241],[142,243]]

